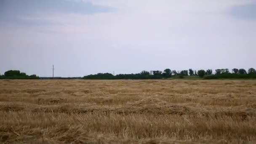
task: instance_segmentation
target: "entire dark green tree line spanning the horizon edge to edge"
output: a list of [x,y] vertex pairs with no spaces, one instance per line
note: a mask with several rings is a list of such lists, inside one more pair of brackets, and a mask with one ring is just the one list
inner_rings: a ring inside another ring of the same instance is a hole
[[[201,69],[201,70],[171,70],[165,69],[152,70],[152,71],[141,71],[137,74],[119,74],[112,75],[111,73],[98,73],[96,75],[87,75],[84,77],[54,77],[54,79],[87,79],[87,80],[117,80],[117,79],[167,79],[167,78],[185,78],[185,77],[200,77],[204,79],[225,79],[225,78],[256,78],[256,70],[254,68],[248,69],[237,69],[234,68],[232,71],[229,69],[216,69],[213,72],[212,69]],[[27,75],[19,70],[9,70],[0,75],[0,79],[53,79],[52,77],[38,77],[37,75]]]

